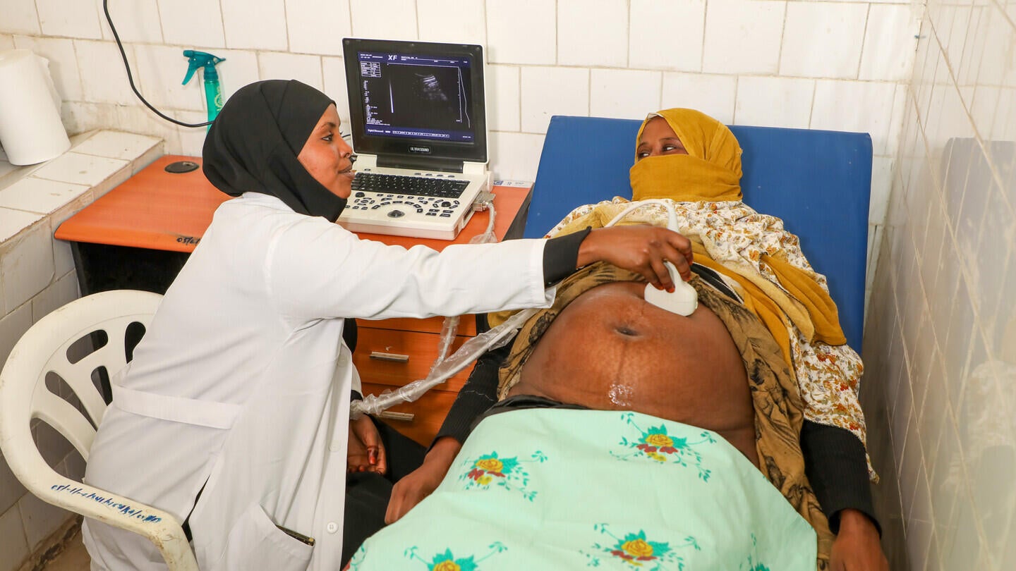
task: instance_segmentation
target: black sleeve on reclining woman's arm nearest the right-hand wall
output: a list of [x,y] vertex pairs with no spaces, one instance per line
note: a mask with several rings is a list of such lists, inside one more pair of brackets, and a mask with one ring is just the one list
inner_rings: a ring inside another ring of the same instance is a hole
[[881,534],[861,440],[848,430],[805,421],[801,427],[801,450],[812,490],[829,518],[829,529],[833,533],[839,531],[839,512],[851,508],[867,515]]

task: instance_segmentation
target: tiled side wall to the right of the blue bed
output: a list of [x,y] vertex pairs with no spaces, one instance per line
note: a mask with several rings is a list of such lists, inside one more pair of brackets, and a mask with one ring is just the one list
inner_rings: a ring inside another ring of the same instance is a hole
[[1016,10],[930,0],[919,36],[865,329],[877,509],[893,569],[1009,571]]

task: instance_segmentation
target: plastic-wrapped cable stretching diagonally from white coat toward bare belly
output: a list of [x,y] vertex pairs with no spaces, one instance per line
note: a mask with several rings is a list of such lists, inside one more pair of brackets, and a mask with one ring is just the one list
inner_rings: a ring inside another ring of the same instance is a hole
[[451,357],[434,366],[426,379],[412,381],[405,386],[395,390],[386,390],[381,394],[368,394],[364,396],[363,400],[354,401],[350,409],[350,418],[356,420],[365,414],[378,415],[395,404],[417,400],[435,385],[445,382],[464,369],[487,351],[504,346],[512,338],[515,331],[522,326],[522,323],[536,311],[535,309],[520,311],[501,325],[465,341]]

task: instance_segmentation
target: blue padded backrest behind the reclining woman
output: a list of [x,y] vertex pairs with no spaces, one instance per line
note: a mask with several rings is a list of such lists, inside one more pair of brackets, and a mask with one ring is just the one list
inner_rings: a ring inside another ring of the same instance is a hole
[[[524,236],[536,238],[573,208],[631,197],[641,121],[555,116],[544,141]],[[744,149],[745,203],[782,218],[839,310],[847,342],[861,352],[868,257],[872,140],[867,133],[746,127],[731,130]]]

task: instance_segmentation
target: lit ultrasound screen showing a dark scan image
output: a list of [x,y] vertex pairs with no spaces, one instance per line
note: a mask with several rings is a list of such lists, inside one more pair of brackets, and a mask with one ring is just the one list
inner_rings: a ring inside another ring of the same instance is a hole
[[472,142],[470,59],[359,52],[365,134]]

